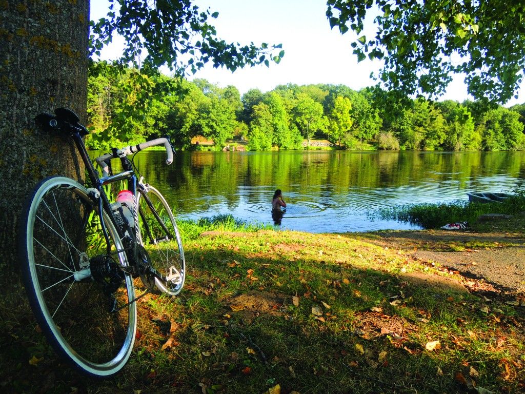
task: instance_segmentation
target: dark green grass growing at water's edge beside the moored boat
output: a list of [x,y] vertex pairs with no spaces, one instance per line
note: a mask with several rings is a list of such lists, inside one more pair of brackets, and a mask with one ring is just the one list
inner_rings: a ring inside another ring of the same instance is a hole
[[436,229],[447,223],[468,222],[474,224],[478,216],[487,213],[517,214],[525,211],[525,194],[517,190],[516,194],[505,202],[479,203],[454,201],[437,204],[406,204],[371,212],[371,219],[397,220],[416,224],[424,229]]

